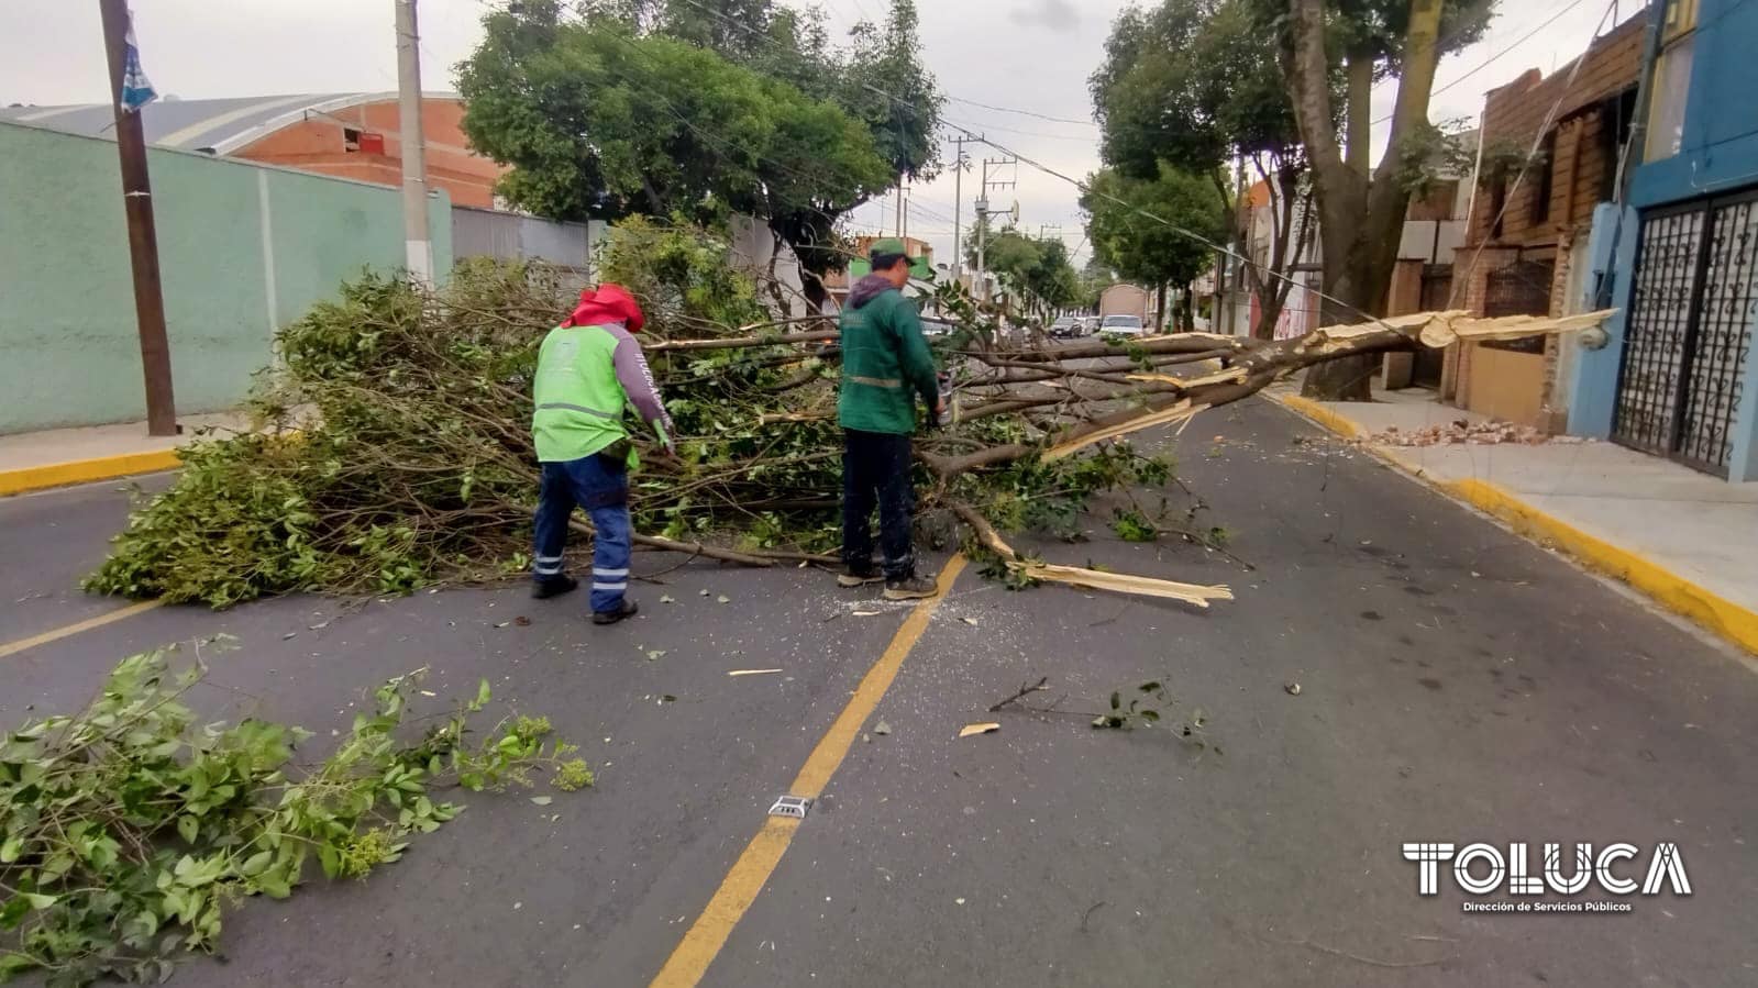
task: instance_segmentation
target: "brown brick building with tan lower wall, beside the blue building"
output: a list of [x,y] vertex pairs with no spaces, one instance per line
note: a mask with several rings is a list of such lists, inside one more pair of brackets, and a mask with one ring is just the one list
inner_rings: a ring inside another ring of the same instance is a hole
[[[1551,76],[1528,69],[1486,97],[1477,195],[1454,267],[1464,308],[1489,316],[1559,315],[1582,295],[1593,207],[1612,199],[1630,137],[1644,25],[1638,11],[1577,62]],[[1538,153],[1526,163],[1535,141]],[[1442,397],[1561,432],[1568,422],[1561,357],[1556,338],[1459,346],[1447,355]]]

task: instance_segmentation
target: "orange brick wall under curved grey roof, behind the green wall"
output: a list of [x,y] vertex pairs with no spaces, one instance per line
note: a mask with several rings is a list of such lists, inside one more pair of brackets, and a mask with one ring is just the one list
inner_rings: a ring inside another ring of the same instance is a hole
[[[422,104],[422,132],[427,142],[427,181],[447,190],[455,206],[494,206],[494,183],[506,171],[469,149],[462,130],[464,105],[457,100],[427,98]],[[352,105],[267,134],[236,151],[239,158],[283,165],[376,185],[403,183],[403,135],[397,130],[397,100],[385,98]],[[385,137],[383,155],[343,148],[343,128],[353,127]]]

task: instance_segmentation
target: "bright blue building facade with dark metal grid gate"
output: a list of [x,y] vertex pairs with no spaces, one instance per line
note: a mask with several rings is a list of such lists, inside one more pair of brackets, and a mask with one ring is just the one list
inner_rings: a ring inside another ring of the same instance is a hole
[[1645,139],[1589,248],[1589,295],[1619,311],[1573,366],[1570,431],[1758,480],[1758,5],[1649,16]]

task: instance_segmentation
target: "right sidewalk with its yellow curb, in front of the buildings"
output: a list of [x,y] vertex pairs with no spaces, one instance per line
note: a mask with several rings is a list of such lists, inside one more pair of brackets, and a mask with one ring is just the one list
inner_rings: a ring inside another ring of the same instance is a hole
[[1484,422],[1433,392],[1378,392],[1373,403],[1317,403],[1296,385],[1266,390],[1313,422],[1362,441],[1399,469],[1623,580],[1660,605],[1758,654],[1758,483],[1726,483],[1600,441],[1375,441],[1456,420]]

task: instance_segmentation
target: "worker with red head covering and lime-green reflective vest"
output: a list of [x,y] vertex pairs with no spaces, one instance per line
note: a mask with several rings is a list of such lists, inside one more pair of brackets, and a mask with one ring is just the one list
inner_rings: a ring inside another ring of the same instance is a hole
[[621,287],[580,292],[580,306],[552,329],[538,350],[531,438],[543,464],[538,494],[533,589],[538,599],[564,594],[578,580],[563,571],[568,519],[575,506],[592,519],[592,622],[615,624],[638,608],[629,585],[629,469],[635,448],[622,410],[652,425],[672,450],[672,418],[659,401],[652,371],[635,341],[645,316]]

